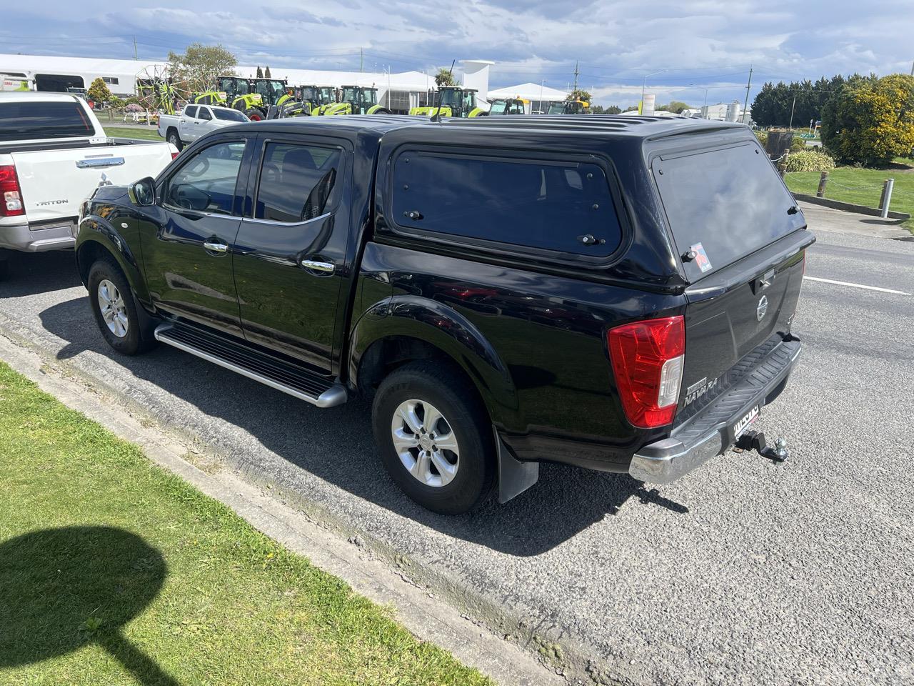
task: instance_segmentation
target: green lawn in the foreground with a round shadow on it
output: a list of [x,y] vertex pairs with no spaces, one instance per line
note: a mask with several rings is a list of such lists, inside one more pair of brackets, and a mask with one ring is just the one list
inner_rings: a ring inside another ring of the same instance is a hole
[[0,683],[491,684],[0,363]]

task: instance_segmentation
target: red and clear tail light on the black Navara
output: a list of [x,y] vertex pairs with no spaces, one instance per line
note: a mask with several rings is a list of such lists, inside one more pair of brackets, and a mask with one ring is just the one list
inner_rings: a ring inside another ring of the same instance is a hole
[[645,319],[611,328],[607,342],[629,423],[651,429],[673,422],[685,356],[682,316]]

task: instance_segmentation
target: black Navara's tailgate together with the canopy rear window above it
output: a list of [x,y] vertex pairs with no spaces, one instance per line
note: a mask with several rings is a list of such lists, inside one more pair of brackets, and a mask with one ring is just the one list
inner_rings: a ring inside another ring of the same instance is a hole
[[691,284],[680,406],[696,409],[790,332],[814,237],[754,140],[661,153],[652,171]]

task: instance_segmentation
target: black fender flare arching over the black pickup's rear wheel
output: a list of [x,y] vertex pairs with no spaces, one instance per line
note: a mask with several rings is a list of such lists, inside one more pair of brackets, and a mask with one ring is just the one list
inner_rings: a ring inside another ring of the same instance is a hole
[[491,343],[452,307],[418,295],[394,295],[372,307],[353,327],[349,382],[357,385],[361,361],[384,338],[416,338],[441,350],[470,378],[495,425],[514,426],[519,417],[511,372]]

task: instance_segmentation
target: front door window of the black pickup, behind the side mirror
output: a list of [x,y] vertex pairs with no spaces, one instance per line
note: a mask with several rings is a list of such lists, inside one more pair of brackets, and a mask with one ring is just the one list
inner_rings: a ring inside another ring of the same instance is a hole
[[172,207],[232,214],[243,143],[218,143],[194,155],[168,181],[165,202]]

